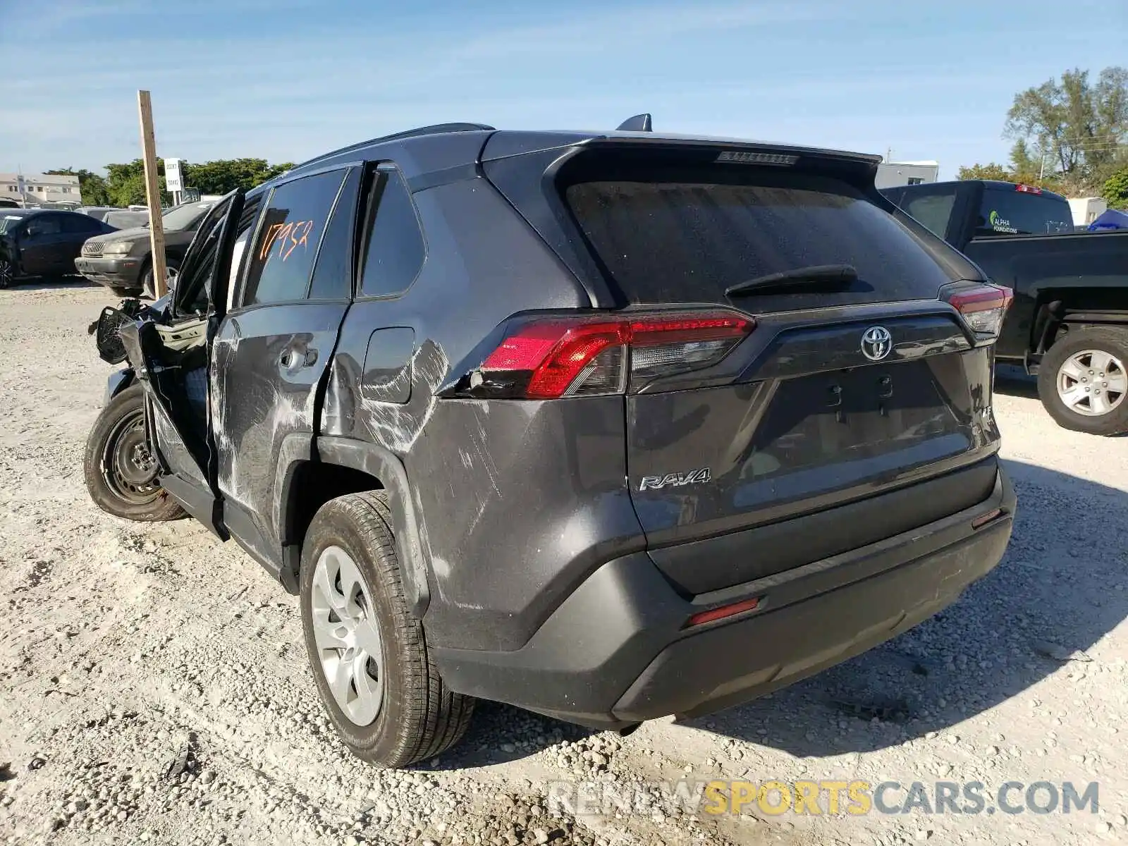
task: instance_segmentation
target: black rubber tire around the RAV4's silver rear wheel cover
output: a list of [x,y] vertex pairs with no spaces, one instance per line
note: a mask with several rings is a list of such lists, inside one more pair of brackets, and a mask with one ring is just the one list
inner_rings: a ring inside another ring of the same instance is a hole
[[[312,622],[314,572],[326,547],[343,549],[372,594],[385,645],[384,699],[376,719],[358,725],[341,710],[325,678]],[[301,553],[301,619],[317,693],[337,735],[358,758],[384,767],[406,767],[457,743],[469,725],[474,699],[443,685],[428,651],[422,623],[407,608],[381,491],[331,500],[310,523]]]

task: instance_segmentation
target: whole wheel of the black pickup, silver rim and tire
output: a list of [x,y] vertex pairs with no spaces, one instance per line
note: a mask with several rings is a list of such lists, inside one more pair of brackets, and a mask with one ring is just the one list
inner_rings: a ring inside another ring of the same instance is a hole
[[1128,331],[1073,329],[1042,356],[1038,396],[1058,425],[1090,434],[1128,432]]

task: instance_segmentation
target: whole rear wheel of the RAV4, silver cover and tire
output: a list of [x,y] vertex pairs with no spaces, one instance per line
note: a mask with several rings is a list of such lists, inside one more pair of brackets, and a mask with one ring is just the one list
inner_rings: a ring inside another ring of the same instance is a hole
[[461,739],[474,699],[443,685],[407,609],[386,494],[320,508],[302,544],[300,584],[317,693],[356,757],[405,767]]

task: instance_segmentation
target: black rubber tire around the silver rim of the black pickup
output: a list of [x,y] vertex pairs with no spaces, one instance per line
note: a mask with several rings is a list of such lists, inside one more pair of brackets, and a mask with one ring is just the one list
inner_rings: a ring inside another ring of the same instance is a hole
[[[1100,351],[1128,365],[1128,331],[1107,326],[1083,326],[1059,337],[1042,356],[1038,369],[1038,397],[1046,411],[1064,429],[1089,434],[1112,435],[1128,432],[1128,396],[1119,395],[1113,407],[1101,415],[1081,414],[1070,408],[1058,395],[1058,373],[1073,355],[1084,351]],[[1094,373],[1100,381],[1100,373]],[[1086,374],[1087,378],[1087,374]],[[1095,386],[1094,387],[1100,387]]]

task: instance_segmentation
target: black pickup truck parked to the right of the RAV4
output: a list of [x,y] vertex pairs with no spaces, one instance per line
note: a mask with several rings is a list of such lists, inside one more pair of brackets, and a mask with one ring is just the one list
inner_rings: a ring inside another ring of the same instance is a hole
[[882,193],[1014,291],[996,356],[1038,376],[1054,420],[1128,432],[1128,231],[1075,232],[1064,196],[1007,182]]

